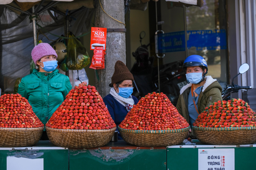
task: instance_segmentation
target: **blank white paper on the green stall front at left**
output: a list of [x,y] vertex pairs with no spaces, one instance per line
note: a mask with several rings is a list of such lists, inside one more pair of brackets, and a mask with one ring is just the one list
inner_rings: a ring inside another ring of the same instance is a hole
[[7,169],[6,170],[43,170],[43,158],[28,159],[17,158],[14,156],[7,156]]

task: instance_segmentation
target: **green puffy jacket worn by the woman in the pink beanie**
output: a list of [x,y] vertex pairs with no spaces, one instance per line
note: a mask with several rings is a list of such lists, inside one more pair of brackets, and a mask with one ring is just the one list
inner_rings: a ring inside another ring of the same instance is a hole
[[18,93],[28,99],[33,112],[45,125],[71,90],[68,76],[56,69],[52,73],[33,72],[22,78]]

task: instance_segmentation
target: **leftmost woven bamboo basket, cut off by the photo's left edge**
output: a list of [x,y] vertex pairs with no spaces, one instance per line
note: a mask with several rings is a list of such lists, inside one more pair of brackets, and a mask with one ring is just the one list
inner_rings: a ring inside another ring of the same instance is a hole
[[0,127],[0,147],[27,147],[34,145],[42,136],[44,127]]

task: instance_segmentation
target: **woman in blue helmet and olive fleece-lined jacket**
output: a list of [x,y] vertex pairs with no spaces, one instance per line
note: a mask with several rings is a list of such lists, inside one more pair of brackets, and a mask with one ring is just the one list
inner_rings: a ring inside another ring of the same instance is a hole
[[[206,106],[222,100],[222,87],[217,79],[213,79],[210,75],[205,76],[208,71],[207,63],[199,55],[191,55],[186,58],[183,69],[188,84],[180,91],[177,110],[192,127],[192,124]],[[195,138],[191,130],[189,137]]]

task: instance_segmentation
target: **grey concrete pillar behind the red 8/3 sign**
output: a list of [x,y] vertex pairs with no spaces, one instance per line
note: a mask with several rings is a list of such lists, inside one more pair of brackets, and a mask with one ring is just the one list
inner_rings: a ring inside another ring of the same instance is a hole
[[[124,1],[100,0],[102,8],[113,18],[109,17],[101,8],[99,0],[95,0],[95,27],[110,29],[123,29],[125,25]],[[115,70],[116,61],[121,60],[126,64],[125,32],[108,32],[106,40],[105,69],[95,70],[95,86],[101,97],[109,94],[111,77]]]

